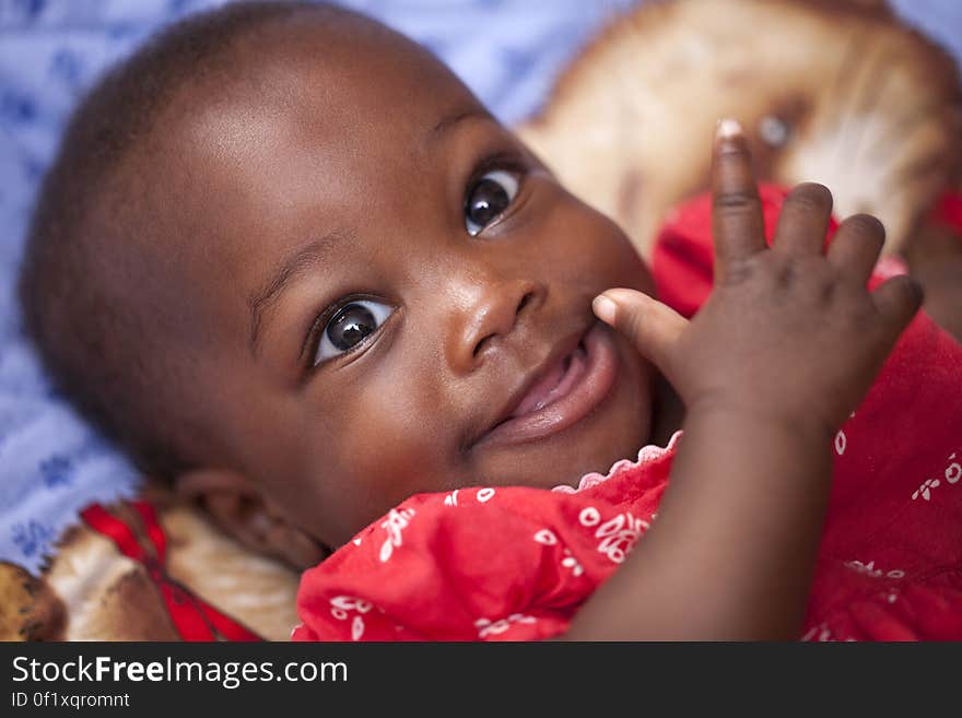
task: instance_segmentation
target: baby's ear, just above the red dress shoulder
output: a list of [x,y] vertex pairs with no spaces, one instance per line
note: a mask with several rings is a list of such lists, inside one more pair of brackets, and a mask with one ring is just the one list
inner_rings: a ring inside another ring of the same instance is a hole
[[329,553],[286,521],[243,474],[226,469],[197,469],[177,476],[174,487],[178,496],[199,505],[244,546],[280,558],[298,570],[317,565]]

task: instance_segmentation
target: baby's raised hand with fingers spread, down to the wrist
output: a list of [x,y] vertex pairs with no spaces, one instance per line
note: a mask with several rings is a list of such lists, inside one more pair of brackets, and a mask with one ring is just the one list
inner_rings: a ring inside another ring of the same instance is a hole
[[609,290],[595,313],[633,340],[695,408],[789,422],[829,436],[868,391],[922,302],[907,276],[866,282],[884,239],[855,215],[823,252],[832,196],[805,184],[785,201],[766,246],[741,129],[723,120],[713,162],[715,286],[687,321],[632,290]]

